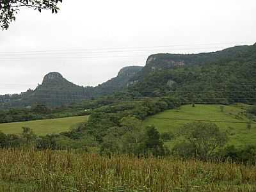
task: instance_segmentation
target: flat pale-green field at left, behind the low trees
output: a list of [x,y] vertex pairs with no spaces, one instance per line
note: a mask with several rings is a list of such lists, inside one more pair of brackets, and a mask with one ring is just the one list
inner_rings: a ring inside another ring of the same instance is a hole
[[70,127],[86,122],[87,119],[88,116],[74,116],[50,120],[36,120],[30,122],[0,124],[0,131],[6,134],[19,134],[20,132],[22,132],[22,127],[29,127],[33,129],[35,134],[44,136],[46,134],[68,131]]

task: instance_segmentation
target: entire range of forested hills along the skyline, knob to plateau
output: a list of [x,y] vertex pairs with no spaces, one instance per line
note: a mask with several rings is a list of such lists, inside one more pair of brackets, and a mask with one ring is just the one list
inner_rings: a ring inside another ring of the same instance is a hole
[[58,72],[35,90],[0,95],[0,108],[60,106],[120,90],[146,97],[173,96],[194,102],[256,102],[256,44],[200,54],[153,54],[145,67],[124,67],[96,87],[77,86]]

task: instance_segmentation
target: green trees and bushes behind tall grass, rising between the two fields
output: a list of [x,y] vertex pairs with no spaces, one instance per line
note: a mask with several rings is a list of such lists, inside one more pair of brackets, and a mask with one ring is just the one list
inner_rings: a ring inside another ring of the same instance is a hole
[[[105,103],[106,104],[106,103]],[[236,148],[227,146],[228,136],[215,124],[195,122],[186,124],[180,134],[164,132],[156,127],[143,127],[143,120],[166,109],[179,108],[182,103],[169,97],[143,99],[134,102],[115,102],[90,110],[86,124],[79,124],[68,132],[36,136],[23,127],[20,135],[1,133],[3,148],[33,145],[38,150],[74,149],[99,154],[133,154],[136,156],[175,156],[202,161],[236,161],[255,164],[256,147]],[[90,105],[90,104],[88,104]],[[92,106],[91,106],[92,107]],[[251,108],[252,110],[254,108]],[[172,150],[164,141],[181,138]]]

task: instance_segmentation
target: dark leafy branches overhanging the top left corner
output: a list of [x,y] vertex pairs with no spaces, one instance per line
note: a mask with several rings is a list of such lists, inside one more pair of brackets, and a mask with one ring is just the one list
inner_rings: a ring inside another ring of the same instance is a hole
[[58,3],[62,0],[1,0],[0,1],[0,26],[8,29],[9,24],[15,21],[15,15],[21,7],[33,8],[41,12],[42,10],[51,10],[52,13],[57,13]]

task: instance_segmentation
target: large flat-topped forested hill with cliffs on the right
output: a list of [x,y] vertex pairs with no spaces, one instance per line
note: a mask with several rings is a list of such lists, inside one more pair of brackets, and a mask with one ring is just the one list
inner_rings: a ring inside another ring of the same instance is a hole
[[256,102],[256,44],[201,54],[155,54],[131,92],[195,102]]

